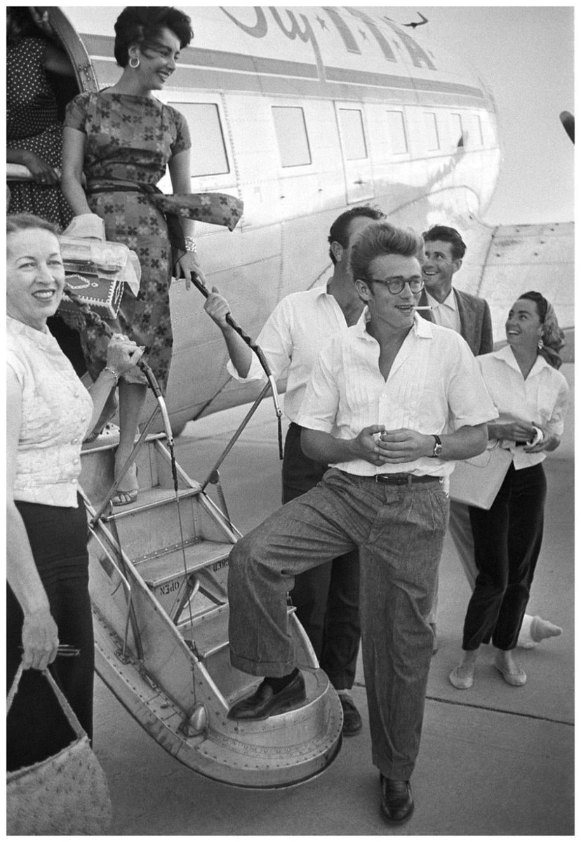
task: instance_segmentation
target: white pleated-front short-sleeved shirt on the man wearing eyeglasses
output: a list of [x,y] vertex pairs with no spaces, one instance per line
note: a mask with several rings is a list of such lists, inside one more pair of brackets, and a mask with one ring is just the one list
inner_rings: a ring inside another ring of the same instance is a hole
[[[366,322],[364,311],[356,325],[331,338],[322,350],[299,416],[303,427],[338,439],[353,439],[371,424],[431,435],[497,417],[477,361],[457,333],[416,314],[385,380],[379,370],[379,343],[367,333]],[[423,456],[381,468],[362,459],[334,466],[361,476],[408,472],[445,477],[454,462]]]

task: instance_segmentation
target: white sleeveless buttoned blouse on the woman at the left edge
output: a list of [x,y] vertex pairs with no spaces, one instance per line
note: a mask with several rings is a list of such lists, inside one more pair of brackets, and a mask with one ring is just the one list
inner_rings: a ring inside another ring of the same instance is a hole
[[[91,396],[50,330],[7,317],[7,363],[22,387],[14,498],[77,508]],[[8,407],[8,412],[10,408]]]

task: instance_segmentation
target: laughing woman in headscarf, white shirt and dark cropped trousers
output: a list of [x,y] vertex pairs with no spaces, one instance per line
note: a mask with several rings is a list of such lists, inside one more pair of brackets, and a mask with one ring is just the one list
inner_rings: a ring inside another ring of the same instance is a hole
[[490,640],[504,680],[525,684],[512,650],[541,552],[542,462],[560,444],[568,401],[567,381],[556,370],[562,333],[546,299],[538,292],[520,296],[505,328],[508,344],[477,360],[499,416],[488,424],[488,438],[509,449],[513,460],[492,507],[469,508],[478,576],[464,621],[463,657],[450,673],[458,690],[472,686],[478,647]]

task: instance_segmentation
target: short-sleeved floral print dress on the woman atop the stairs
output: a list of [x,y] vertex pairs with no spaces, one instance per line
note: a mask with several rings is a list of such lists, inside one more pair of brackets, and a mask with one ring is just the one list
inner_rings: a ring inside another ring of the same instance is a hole
[[[190,147],[188,125],[179,111],[157,99],[106,89],[75,97],[67,106],[65,125],[86,135],[83,171],[89,207],[104,220],[107,239],[125,243],[141,264],[138,296],[126,288],[117,320],[109,323],[146,346],[145,359],[165,392],[173,345],[168,226],[147,195],[131,188],[163,178],[168,161]],[[99,192],[92,193],[92,187]],[[82,344],[89,374],[96,378],[105,365],[107,339],[86,325]]]

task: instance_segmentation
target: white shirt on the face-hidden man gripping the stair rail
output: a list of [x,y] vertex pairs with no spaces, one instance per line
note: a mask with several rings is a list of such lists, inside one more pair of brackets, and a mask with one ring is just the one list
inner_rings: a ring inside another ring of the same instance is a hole
[[[326,286],[285,296],[264,323],[256,343],[263,349],[275,380],[287,375],[284,407],[290,421],[298,423],[306,384],[322,345],[334,333],[346,330],[343,311]],[[237,374],[232,362],[227,369],[244,383],[265,379],[255,354],[246,377]]]

